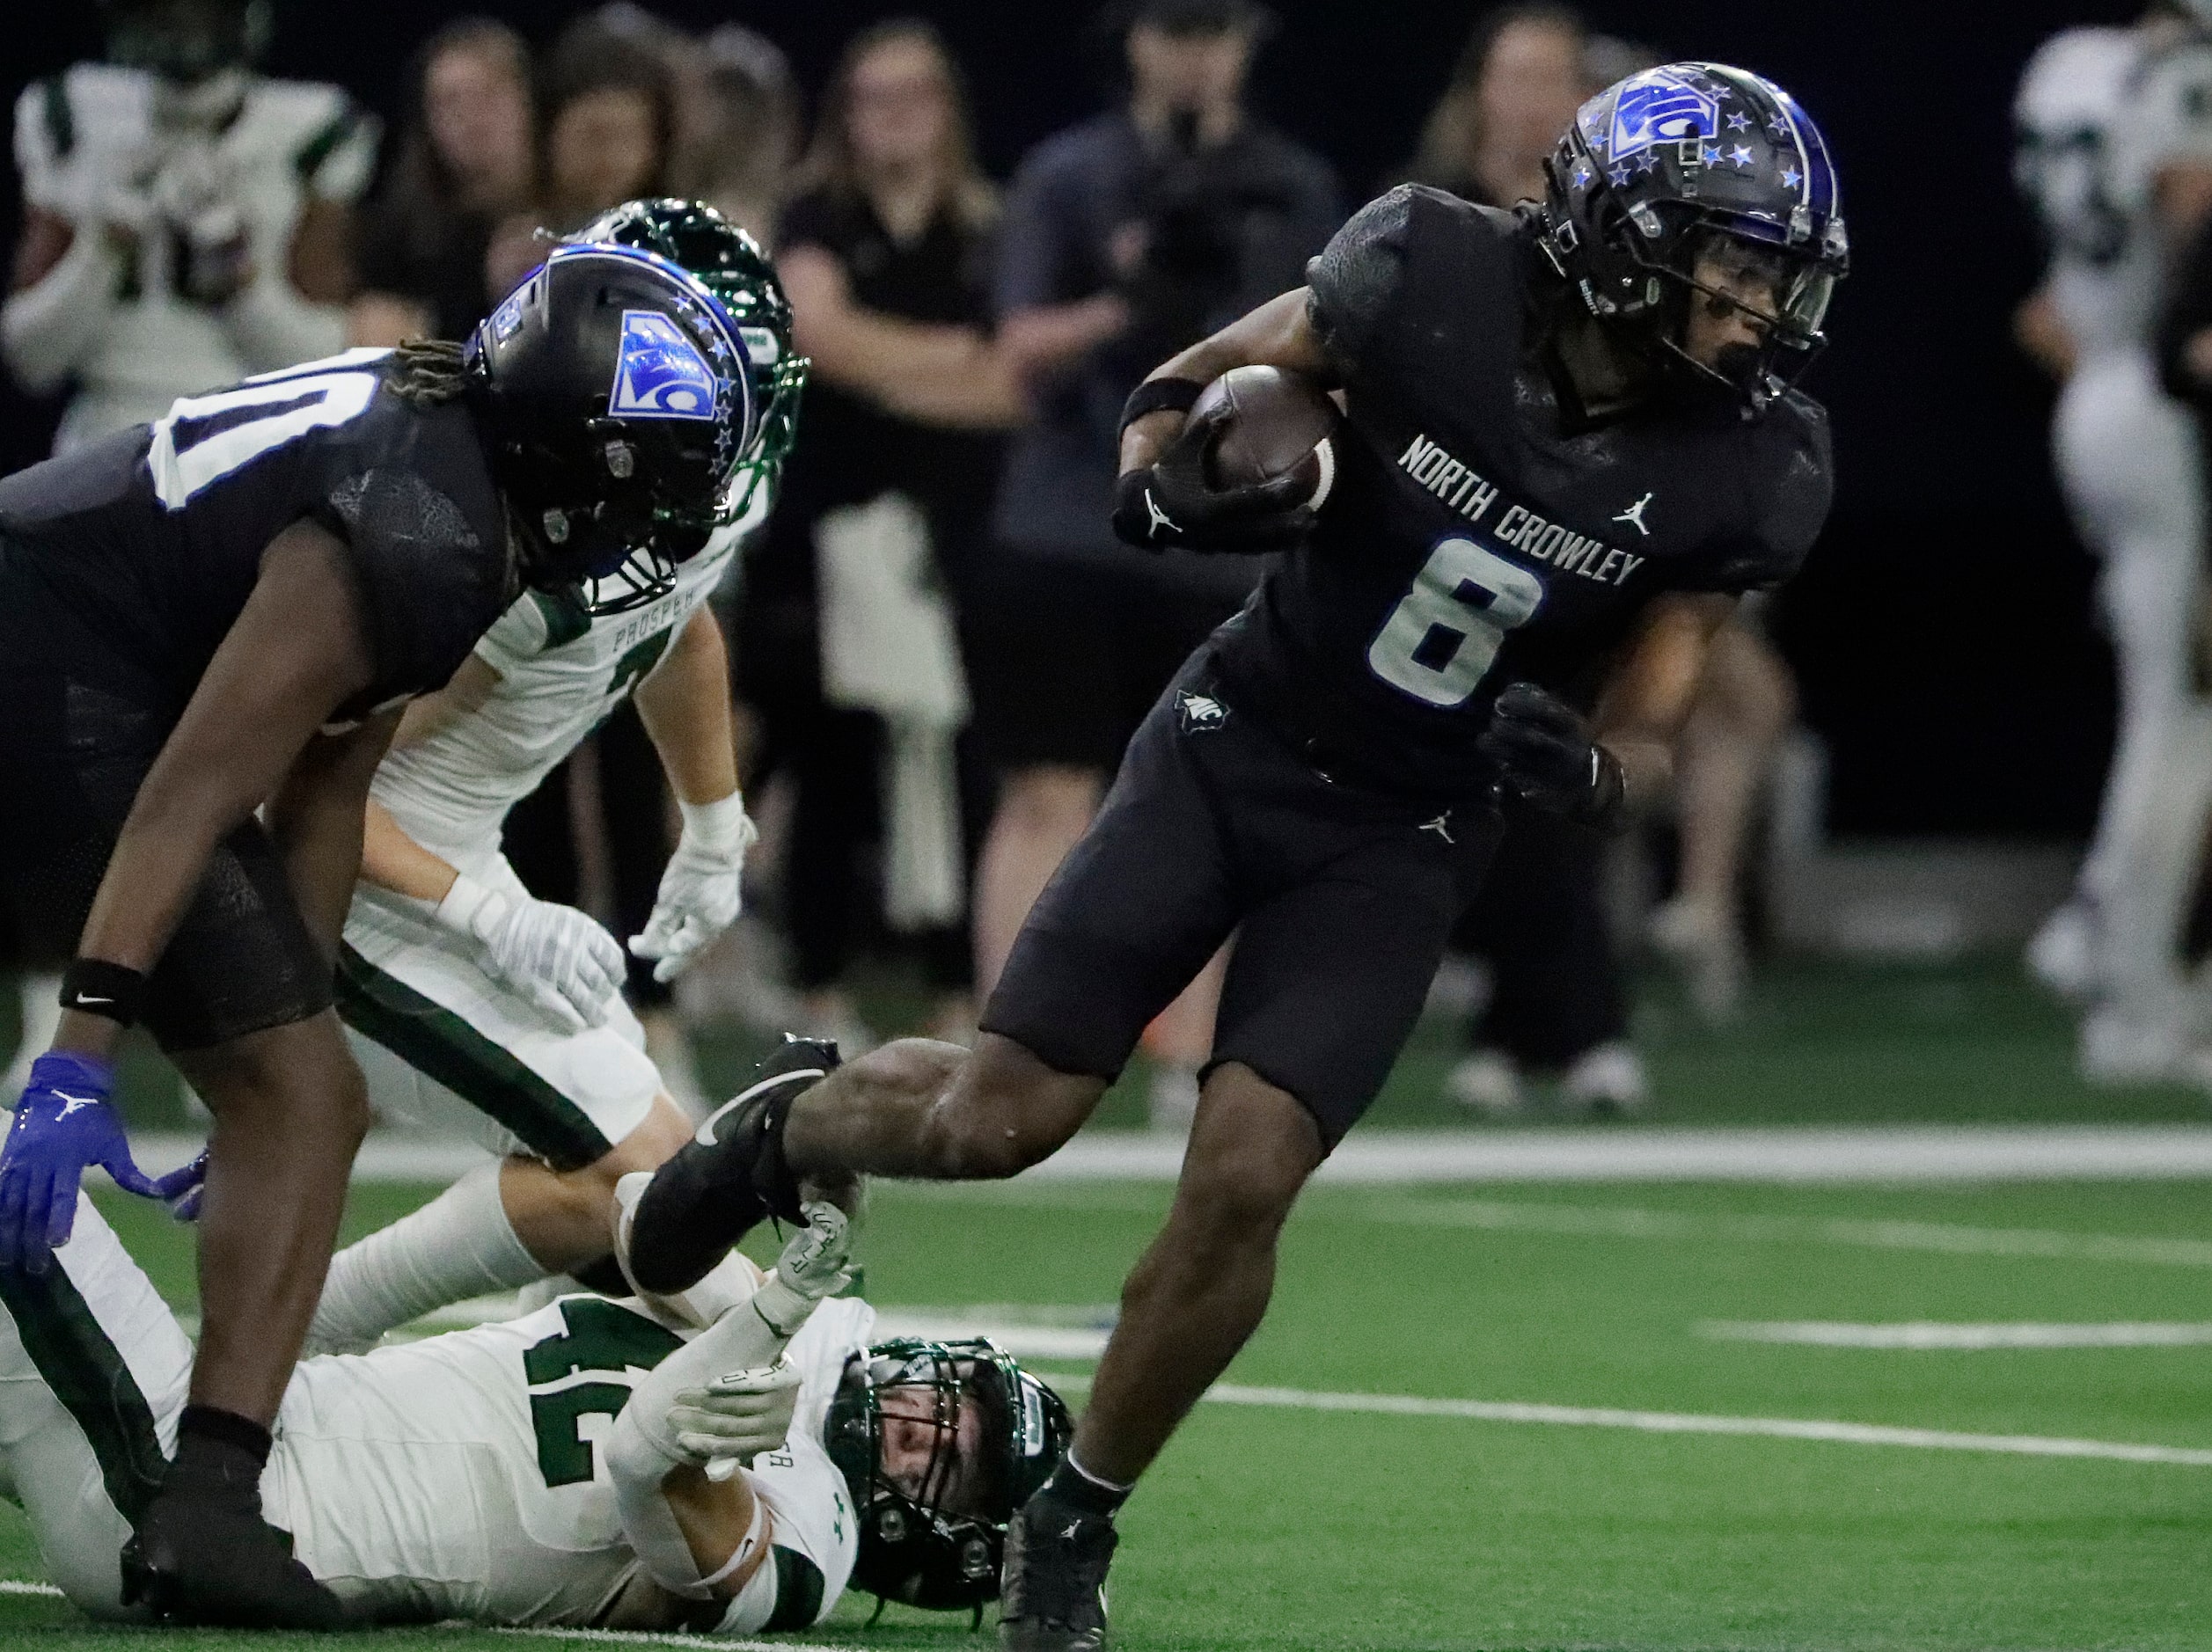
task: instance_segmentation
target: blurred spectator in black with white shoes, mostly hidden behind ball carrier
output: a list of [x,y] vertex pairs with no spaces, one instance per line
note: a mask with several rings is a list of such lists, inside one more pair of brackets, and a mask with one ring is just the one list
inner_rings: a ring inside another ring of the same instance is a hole
[[[1619,53],[1590,46],[1582,15],[1562,4],[1506,7],[1478,20],[1422,128],[1413,181],[1493,208],[1544,199],[1544,161],[1559,135],[1584,97],[1619,77],[1608,73]],[[1495,876],[1453,935],[1453,949],[1480,960],[1489,982],[1467,1026],[1467,1055],[1444,1079],[1460,1106],[1511,1117],[1528,1104],[1531,1073],[1557,1075],[1573,1108],[1644,1106],[1648,1081],[1628,1044],[1628,984],[1604,867],[1597,834],[1511,818]]]

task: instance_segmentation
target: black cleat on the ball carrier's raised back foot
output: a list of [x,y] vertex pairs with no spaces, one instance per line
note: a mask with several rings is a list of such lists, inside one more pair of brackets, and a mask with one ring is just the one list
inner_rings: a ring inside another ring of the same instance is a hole
[[774,1216],[799,1225],[799,1177],[783,1161],[792,1101],[836,1073],[830,1039],[790,1037],[752,1084],[653,1172],[630,1216],[630,1280],[657,1296],[688,1292],[730,1247]]

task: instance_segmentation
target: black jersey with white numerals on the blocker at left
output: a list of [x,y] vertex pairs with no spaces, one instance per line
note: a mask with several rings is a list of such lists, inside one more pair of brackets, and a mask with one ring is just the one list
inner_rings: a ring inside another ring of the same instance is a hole
[[[376,679],[345,717],[440,688],[513,597],[507,517],[460,402],[392,391],[356,349],[188,396],[166,418],[0,480],[0,566],[177,692],[261,553],[312,517],[352,548]],[[24,586],[18,586],[24,588]]]

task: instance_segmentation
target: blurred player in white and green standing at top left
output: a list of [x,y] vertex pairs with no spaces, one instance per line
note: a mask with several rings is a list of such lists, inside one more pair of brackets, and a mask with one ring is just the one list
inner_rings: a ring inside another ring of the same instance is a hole
[[[73,387],[55,451],[161,418],[179,396],[345,343],[349,208],[376,124],[336,86],[265,80],[248,0],[117,0],[106,62],[22,93],[0,349],[33,394]],[[22,982],[20,1088],[60,1015]]]

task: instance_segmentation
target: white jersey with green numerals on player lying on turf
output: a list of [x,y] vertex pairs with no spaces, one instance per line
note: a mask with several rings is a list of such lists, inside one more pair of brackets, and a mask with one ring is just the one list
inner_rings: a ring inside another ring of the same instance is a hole
[[[841,1298],[792,1338],[790,1444],[748,1471],[783,1552],[730,1630],[814,1623],[852,1577],[860,1533],[821,1437],[874,1322]],[[637,1303],[564,1296],[502,1325],[303,1360],[261,1482],[268,1517],[361,1619],[595,1625],[639,1575],[597,1442],[677,1347]],[[794,1592],[781,1610],[779,1588]]]

